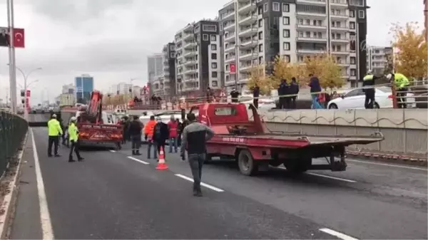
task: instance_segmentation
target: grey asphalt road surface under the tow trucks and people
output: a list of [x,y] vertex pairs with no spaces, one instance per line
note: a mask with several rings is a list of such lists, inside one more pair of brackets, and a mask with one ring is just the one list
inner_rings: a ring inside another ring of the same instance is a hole
[[425,168],[350,160],[347,172],[246,177],[222,160],[204,165],[204,197],[193,197],[188,162],[168,148],[166,171],[145,146],[138,158],[126,146],[68,163],[68,148],[48,158],[46,129],[33,132],[12,240],[428,239]]

